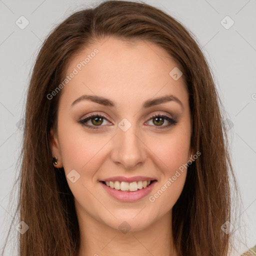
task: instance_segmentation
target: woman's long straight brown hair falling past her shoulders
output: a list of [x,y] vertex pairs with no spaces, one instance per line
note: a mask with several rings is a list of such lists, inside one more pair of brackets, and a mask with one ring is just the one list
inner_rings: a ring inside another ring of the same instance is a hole
[[179,255],[227,255],[230,233],[221,225],[230,221],[230,182],[235,184],[235,178],[210,67],[196,38],[173,17],[143,2],[117,0],[71,14],[47,36],[37,55],[27,93],[18,177],[19,220],[29,226],[19,236],[20,255],[77,254],[73,195],[63,169],[52,166],[49,144],[60,93],[50,100],[47,94],[61,83],[76,53],[108,36],[153,42],[182,71],[193,120],[190,143],[201,155],[188,167],[183,191],[172,208],[174,244]]

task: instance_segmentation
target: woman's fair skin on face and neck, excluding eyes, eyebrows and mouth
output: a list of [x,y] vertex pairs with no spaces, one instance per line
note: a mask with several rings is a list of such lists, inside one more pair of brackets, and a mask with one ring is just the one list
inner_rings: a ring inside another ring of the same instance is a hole
[[[86,47],[71,60],[66,74],[97,48],[98,53],[62,88],[58,105],[57,133],[51,134],[52,156],[57,167],[79,173],[75,182],[67,178],[74,195],[80,240],[79,256],[177,255],[171,232],[172,207],[178,199],[186,169],[153,202],[154,195],[186,163],[190,149],[191,116],[183,77],[174,80],[169,72],[177,64],[164,49],[150,42],[127,45],[108,38]],[[76,68],[77,69],[77,68]],[[112,100],[105,106],[89,100],[72,102],[81,95],[98,95]],[[174,95],[182,106],[166,101],[143,108],[148,99]],[[100,126],[95,118],[87,125],[78,122],[89,114],[104,115]],[[157,126],[153,114],[165,114]],[[123,131],[118,123],[131,124]],[[158,128],[157,128],[158,127]],[[148,176],[156,179],[152,191],[127,202],[109,195],[99,180],[112,176]],[[126,221],[130,230],[120,231]]]

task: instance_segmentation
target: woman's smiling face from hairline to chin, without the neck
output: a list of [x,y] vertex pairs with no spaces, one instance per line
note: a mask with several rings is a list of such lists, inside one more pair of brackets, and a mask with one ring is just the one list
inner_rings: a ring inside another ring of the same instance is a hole
[[[171,214],[185,181],[181,166],[193,153],[188,93],[176,66],[157,45],[114,38],[69,63],[51,149],[77,216],[139,230]],[[147,180],[154,182],[144,188]]]

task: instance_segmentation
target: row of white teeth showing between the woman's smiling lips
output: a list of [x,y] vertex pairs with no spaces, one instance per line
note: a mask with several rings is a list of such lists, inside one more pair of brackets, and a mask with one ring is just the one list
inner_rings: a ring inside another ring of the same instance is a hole
[[104,185],[116,189],[116,190],[120,190],[123,192],[134,192],[137,190],[141,190],[143,188],[146,188],[148,186],[150,186],[152,183],[155,183],[157,180],[140,180],[140,181],[133,181],[133,182],[125,182],[125,181],[100,181],[102,182]]

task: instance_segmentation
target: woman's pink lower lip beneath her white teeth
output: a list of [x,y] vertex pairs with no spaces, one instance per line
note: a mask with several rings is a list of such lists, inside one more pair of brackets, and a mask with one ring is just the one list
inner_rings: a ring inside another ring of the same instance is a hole
[[111,188],[107,185],[105,185],[103,182],[99,182],[103,186],[103,188],[107,191],[108,194],[110,194],[112,197],[119,201],[123,202],[133,202],[140,200],[147,194],[149,194],[152,190],[152,187],[156,183],[156,180],[154,180],[151,184],[149,184],[147,187],[138,189],[136,191],[130,192],[130,191],[121,191],[114,188]]

